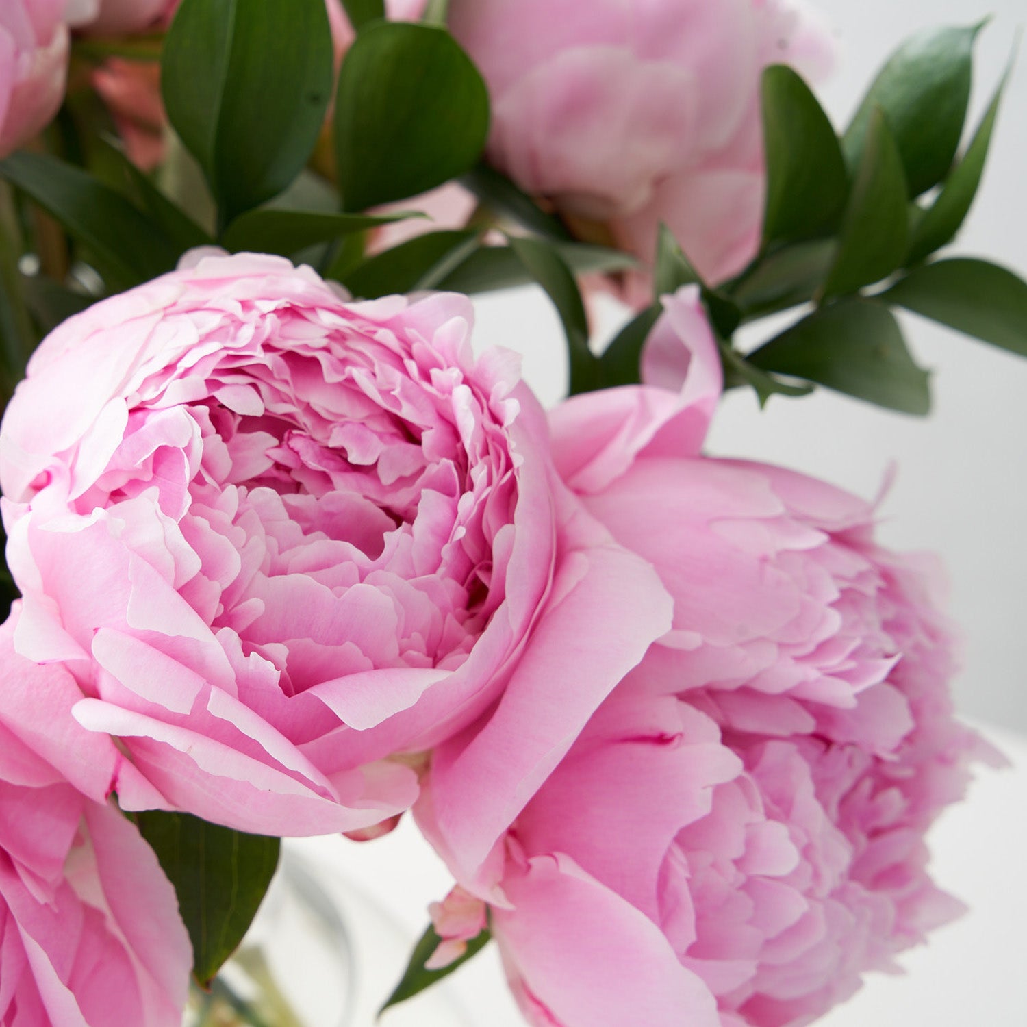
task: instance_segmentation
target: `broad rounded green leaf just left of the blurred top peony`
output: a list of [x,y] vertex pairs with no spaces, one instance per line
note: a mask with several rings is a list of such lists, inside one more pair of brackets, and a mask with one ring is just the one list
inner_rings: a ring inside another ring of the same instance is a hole
[[379,22],[339,74],[335,144],[347,211],[463,175],[489,131],[489,93],[470,58],[434,26]]

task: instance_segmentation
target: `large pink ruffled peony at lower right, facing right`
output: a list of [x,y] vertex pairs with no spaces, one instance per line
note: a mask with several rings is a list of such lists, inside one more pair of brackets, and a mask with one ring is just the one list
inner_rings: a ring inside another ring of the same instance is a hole
[[[717,365],[682,319],[696,299],[671,301],[663,343],[690,342],[701,405]],[[957,911],[923,836],[986,754],[952,715],[929,565],[880,547],[846,493],[700,457],[701,410],[654,418],[656,391],[568,402],[554,446],[589,512],[656,568],[672,630],[488,861],[465,858],[445,765],[419,816],[491,902],[532,1023],[804,1024]]]

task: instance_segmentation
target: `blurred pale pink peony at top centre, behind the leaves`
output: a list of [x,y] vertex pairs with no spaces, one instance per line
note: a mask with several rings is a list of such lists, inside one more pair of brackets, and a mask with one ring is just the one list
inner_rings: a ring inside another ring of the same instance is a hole
[[762,69],[830,68],[801,0],[453,0],[492,96],[488,157],[571,228],[649,261],[665,222],[709,280],[756,254]]

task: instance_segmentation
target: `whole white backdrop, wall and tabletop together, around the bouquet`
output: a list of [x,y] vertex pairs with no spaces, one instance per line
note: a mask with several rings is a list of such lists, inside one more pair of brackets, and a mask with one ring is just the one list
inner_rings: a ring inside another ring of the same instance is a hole
[[[821,0],[819,6],[842,43],[841,66],[819,90],[839,124],[905,36],[992,13],[979,42],[976,123],[1018,25],[1027,23],[1022,0]],[[1025,125],[1027,69],[1020,67],[1006,92],[981,195],[957,245],[961,254],[987,257],[1021,274],[1027,272]],[[562,342],[545,300],[520,290],[478,306],[479,343],[523,352],[529,382],[543,402],[558,401],[565,388]],[[966,638],[964,671],[955,685],[958,706],[982,722],[1016,764],[1001,772],[982,770],[971,801],[950,810],[931,839],[938,880],[972,912],[907,957],[909,977],[872,976],[824,1027],[1025,1027],[1027,738],[1006,731],[1027,732],[1027,360],[927,321],[910,317],[907,327],[917,359],[934,370],[930,418],[888,414],[826,390],[800,401],[773,397],[760,412],[752,395],[736,392],[724,401],[709,448],[786,464],[865,496],[877,492],[885,468],[897,462],[880,535],[896,547],[943,555],[952,581],[950,609]],[[335,844],[319,841],[306,850],[341,865],[412,938],[419,935],[424,906],[441,898],[447,878],[411,826],[369,846]],[[419,869],[412,873],[412,867]],[[394,954],[395,975],[402,958]],[[375,969],[371,976],[388,977],[387,968]],[[500,983],[494,952],[487,950],[450,980],[448,995],[434,999],[449,1012],[432,1012],[430,999],[420,1007],[415,1000],[406,1011],[386,1014],[383,1027],[522,1023]]]

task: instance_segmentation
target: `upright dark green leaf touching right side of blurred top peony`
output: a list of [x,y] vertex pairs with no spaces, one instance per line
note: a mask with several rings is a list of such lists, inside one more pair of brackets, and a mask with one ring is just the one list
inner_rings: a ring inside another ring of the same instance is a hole
[[763,244],[833,232],[848,179],[838,138],[809,86],[791,68],[763,72],[767,197]]

